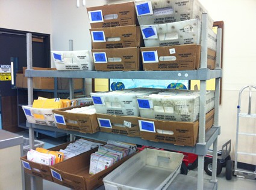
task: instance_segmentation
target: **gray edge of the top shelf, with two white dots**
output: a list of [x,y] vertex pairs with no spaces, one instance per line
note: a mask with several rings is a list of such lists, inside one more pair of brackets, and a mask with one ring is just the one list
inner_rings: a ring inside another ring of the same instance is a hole
[[86,79],[156,79],[156,80],[209,80],[220,78],[222,70],[193,71],[39,71],[26,70],[26,77],[63,77]]

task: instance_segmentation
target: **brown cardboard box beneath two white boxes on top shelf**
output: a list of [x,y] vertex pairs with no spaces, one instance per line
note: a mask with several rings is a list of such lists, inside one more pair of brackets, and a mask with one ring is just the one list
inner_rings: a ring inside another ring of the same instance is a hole
[[[141,47],[145,71],[182,71],[200,68],[201,46],[196,44]],[[215,68],[216,52],[208,49],[207,67]]]

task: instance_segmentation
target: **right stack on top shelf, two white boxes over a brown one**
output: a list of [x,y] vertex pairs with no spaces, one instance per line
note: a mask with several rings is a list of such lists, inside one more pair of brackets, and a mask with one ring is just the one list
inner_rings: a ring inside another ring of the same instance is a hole
[[[200,67],[201,14],[198,0],[136,1],[136,13],[146,47],[144,70],[196,70]],[[208,15],[208,65],[215,67],[216,34]]]

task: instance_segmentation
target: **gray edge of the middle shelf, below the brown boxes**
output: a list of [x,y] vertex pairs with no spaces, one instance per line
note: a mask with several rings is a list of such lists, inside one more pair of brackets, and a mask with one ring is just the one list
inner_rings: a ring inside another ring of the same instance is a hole
[[82,133],[82,132],[77,132],[77,131],[58,129],[55,126],[47,126],[47,125],[31,124],[31,127],[34,129],[45,129],[48,131],[66,132],[67,134],[73,134],[73,135],[80,136],[80,137],[92,138],[95,140],[123,141],[126,143],[141,144],[141,145],[145,145],[145,146],[158,147],[158,148],[163,148],[163,149],[167,149],[167,150],[195,153],[196,155],[203,155],[203,156],[207,155],[208,148],[211,146],[213,141],[216,140],[217,135],[219,135],[219,133],[220,133],[220,127],[213,126],[205,133],[205,141],[206,141],[205,144],[196,144],[195,146],[190,147],[190,146],[178,146],[175,144],[148,141],[148,140],[143,140],[140,137],[128,137],[126,135],[112,134],[112,133],[101,132],[101,131],[96,132],[95,134],[89,134],[89,133]]

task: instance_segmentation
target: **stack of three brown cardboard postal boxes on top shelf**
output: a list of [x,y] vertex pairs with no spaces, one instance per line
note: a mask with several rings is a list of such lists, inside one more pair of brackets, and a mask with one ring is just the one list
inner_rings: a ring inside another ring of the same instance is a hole
[[140,28],[134,2],[88,7],[92,55],[97,71],[142,70]]

